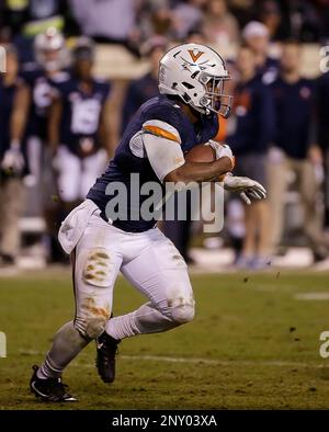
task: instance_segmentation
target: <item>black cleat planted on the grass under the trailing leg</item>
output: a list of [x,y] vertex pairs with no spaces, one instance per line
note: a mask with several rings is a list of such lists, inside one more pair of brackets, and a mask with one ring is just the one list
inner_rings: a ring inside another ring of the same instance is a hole
[[47,378],[41,379],[36,373],[38,366],[34,365],[33,375],[30,380],[31,391],[34,393],[35,397],[39,397],[42,400],[49,402],[76,402],[77,399],[66,393],[65,384],[61,383],[60,378]]

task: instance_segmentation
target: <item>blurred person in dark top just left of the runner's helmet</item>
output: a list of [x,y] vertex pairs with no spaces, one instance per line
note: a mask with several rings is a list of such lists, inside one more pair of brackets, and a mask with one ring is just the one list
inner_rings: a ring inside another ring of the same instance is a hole
[[144,102],[159,94],[159,61],[167,48],[168,41],[162,36],[154,36],[144,45],[144,55],[149,59],[150,70],[144,77],[132,81],[127,89],[123,106],[122,130],[126,128],[126,125]]

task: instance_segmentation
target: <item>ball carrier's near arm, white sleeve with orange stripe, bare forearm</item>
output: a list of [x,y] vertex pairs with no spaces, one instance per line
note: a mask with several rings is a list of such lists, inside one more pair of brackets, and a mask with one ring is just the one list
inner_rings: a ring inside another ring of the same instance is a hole
[[216,180],[234,168],[228,152],[213,162],[185,161],[180,135],[166,122],[146,122],[143,125],[143,141],[149,162],[162,182],[201,183]]

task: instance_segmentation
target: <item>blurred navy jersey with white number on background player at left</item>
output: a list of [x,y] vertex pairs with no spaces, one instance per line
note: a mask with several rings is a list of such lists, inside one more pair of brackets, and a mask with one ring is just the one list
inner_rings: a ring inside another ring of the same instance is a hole
[[110,83],[93,79],[86,93],[80,81],[67,73],[64,79],[52,80],[53,90],[61,99],[60,144],[79,156],[94,152],[100,147],[101,112],[110,94]]

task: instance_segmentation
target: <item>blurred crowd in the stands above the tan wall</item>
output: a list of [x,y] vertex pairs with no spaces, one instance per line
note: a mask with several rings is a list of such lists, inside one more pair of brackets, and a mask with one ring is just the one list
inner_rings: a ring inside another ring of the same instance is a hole
[[120,43],[139,55],[155,34],[184,41],[201,32],[207,43],[241,39],[241,29],[263,22],[272,41],[319,42],[329,36],[328,0],[2,0],[2,38],[33,37],[45,26]]

